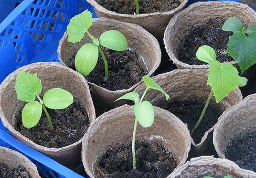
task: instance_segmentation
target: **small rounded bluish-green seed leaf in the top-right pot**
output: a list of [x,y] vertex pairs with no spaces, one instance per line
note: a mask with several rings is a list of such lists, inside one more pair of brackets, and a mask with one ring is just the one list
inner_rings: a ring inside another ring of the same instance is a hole
[[222,30],[234,32],[234,31],[240,31],[242,28],[243,28],[243,24],[238,18],[230,17],[225,21],[222,27]]

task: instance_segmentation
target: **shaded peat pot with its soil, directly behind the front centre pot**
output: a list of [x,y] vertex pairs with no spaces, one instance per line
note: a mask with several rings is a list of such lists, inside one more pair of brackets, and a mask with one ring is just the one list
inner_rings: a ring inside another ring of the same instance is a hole
[[[145,100],[154,106],[164,108],[173,113],[188,125],[191,131],[207,101],[210,87],[207,85],[208,72],[205,69],[174,70],[153,77],[163,90],[169,94],[167,102],[165,96],[154,90],[149,90]],[[145,84],[136,87],[135,92],[143,93]],[[206,115],[202,119],[198,129],[191,136],[192,151],[194,155],[202,155],[206,151],[214,150],[212,145],[212,131],[219,116],[230,106],[241,101],[242,95],[237,88],[224,98],[218,105],[215,98],[211,98]]]

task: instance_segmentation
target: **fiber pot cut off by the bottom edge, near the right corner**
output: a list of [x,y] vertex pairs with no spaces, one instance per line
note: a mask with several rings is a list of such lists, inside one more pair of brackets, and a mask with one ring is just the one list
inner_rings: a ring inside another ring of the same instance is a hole
[[237,164],[227,159],[219,159],[214,157],[198,157],[193,158],[182,167],[172,173],[172,178],[194,178],[198,175],[211,174],[230,175],[236,178],[256,177],[256,173],[239,168]]

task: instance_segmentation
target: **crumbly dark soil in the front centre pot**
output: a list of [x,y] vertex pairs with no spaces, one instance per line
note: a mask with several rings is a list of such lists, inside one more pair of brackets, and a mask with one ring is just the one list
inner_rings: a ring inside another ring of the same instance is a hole
[[136,141],[136,170],[132,165],[131,143],[110,148],[94,166],[97,177],[166,177],[177,166],[174,155],[158,142]]

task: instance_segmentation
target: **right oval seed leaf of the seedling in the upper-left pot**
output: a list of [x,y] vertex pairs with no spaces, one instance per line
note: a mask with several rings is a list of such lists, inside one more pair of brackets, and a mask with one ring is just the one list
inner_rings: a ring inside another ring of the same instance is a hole
[[125,51],[128,47],[128,42],[125,36],[118,30],[109,30],[103,32],[99,40],[101,46],[115,51]]

